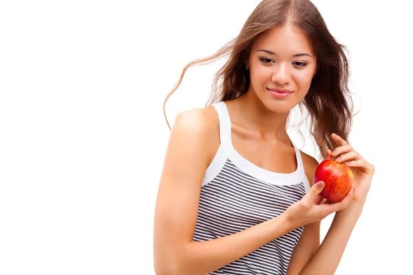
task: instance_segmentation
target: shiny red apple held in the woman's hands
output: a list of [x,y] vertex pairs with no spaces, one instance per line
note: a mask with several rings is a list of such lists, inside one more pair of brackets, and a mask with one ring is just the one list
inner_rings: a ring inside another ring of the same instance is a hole
[[332,202],[341,201],[352,188],[352,170],[346,164],[326,159],[315,169],[313,184],[318,181],[324,181],[321,197]]

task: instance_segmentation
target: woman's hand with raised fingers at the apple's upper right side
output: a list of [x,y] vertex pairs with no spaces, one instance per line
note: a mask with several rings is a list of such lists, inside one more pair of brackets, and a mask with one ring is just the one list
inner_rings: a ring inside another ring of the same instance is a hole
[[339,146],[333,151],[327,149],[328,156],[326,159],[334,159],[334,157],[341,154],[335,161],[346,164],[352,170],[353,186],[355,187],[352,199],[353,201],[364,203],[372,183],[374,165],[370,164],[366,159],[363,159],[363,157],[339,135],[332,133],[331,137]]

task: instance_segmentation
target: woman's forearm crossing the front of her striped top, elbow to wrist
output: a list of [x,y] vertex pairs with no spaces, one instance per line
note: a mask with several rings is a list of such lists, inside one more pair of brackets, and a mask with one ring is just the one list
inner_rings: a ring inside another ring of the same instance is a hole
[[241,232],[211,241],[188,243],[178,256],[171,274],[208,274],[257,250],[293,230],[284,214]]

